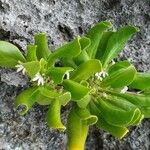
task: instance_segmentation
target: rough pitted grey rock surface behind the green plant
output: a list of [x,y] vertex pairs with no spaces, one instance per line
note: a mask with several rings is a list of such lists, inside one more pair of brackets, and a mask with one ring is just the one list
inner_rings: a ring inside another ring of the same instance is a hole
[[[120,59],[132,59],[139,71],[150,71],[149,0],[0,0],[0,39],[15,43],[22,51],[36,32],[47,32],[54,49],[101,20],[111,20],[115,28],[125,24],[140,28]],[[35,106],[26,116],[14,109],[15,96],[28,86],[26,78],[8,69],[1,69],[0,76],[0,149],[64,150],[66,134],[47,128],[47,108]],[[86,149],[149,150],[150,120],[131,129],[121,141],[92,127]]]

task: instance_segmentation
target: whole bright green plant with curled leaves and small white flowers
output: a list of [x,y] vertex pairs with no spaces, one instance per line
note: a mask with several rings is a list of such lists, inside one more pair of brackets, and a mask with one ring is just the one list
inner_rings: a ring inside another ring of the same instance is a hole
[[[0,66],[17,68],[31,81],[15,106],[26,114],[35,103],[48,105],[48,127],[67,129],[69,150],[83,150],[89,126],[121,139],[129,126],[150,117],[150,74],[138,72],[128,60],[114,62],[139,29],[124,26],[114,31],[109,21],[92,27],[55,51],[45,33],[35,35],[24,56],[13,44],[0,41]],[[61,66],[56,65],[57,61]],[[67,125],[61,108],[72,103]]]

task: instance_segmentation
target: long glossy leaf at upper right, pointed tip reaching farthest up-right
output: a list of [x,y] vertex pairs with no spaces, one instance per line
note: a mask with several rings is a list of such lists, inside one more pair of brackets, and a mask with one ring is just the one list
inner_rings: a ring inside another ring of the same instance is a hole
[[109,38],[106,51],[102,58],[102,64],[104,68],[113,58],[115,58],[120,53],[130,37],[138,31],[139,29],[136,27],[125,26],[112,34],[112,36]]

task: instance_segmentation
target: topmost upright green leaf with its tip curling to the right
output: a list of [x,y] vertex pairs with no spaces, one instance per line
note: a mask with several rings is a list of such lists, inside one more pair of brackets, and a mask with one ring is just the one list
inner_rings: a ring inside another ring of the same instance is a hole
[[90,58],[95,58],[99,42],[102,38],[103,32],[111,28],[112,24],[109,21],[103,21],[96,24],[87,33],[87,37],[91,39],[91,45],[86,50]]

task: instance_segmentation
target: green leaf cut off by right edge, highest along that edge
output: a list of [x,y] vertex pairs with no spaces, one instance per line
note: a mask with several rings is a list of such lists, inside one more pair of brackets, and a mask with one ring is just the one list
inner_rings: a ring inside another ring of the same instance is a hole
[[139,90],[150,89],[150,73],[137,72],[129,87]]

